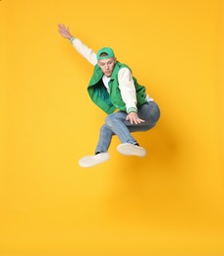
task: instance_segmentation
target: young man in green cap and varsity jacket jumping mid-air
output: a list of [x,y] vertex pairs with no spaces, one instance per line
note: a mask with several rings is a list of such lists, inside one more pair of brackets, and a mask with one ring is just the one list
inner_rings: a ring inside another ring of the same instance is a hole
[[[108,114],[100,129],[95,155],[84,157],[79,161],[80,165],[89,167],[109,160],[108,149],[113,135],[121,141],[117,147],[119,153],[144,157],[146,151],[131,133],[155,126],[160,116],[158,105],[145,94],[145,88],[138,84],[131,69],[117,61],[110,47],[101,48],[95,54],[64,25],[58,25],[58,32],[94,66],[87,92],[92,101]],[[114,112],[116,109],[118,111]]]

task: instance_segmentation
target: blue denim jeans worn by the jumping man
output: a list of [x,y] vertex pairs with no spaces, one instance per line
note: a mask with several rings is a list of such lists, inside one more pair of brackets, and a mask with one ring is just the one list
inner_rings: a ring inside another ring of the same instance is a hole
[[127,115],[125,111],[118,111],[106,117],[105,124],[100,129],[95,153],[107,152],[113,135],[117,135],[121,143],[137,143],[131,133],[147,131],[155,126],[160,116],[160,110],[154,101],[142,104],[138,108],[138,115],[144,122],[140,124],[131,124],[126,120]]

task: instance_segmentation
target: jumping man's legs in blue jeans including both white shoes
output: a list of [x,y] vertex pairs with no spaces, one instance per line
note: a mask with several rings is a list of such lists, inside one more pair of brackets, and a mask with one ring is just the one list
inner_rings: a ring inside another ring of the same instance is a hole
[[139,147],[135,138],[131,135],[132,132],[147,131],[151,129],[159,119],[159,108],[155,102],[147,102],[140,106],[138,115],[144,120],[140,124],[131,124],[126,120],[127,113],[118,111],[106,117],[106,124],[100,129],[98,144],[95,150],[95,156],[84,157],[81,159],[80,165],[83,167],[93,166],[105,160],[109,160],[107,153],[113,135],[117,135],[121,145],[118,146],[118,151],[123,155],[135,155],[143,157],[145,150]]

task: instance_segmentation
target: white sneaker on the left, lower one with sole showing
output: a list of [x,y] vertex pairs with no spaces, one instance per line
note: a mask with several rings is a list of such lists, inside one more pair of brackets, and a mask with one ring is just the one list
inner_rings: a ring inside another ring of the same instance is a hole
[[87,156],[84,157],[83,159],[79,160],[79,164],[82,167],[91,167],[95,164],[101,163],[105,160],[109,160],[110,156],[108,153],[99,153],[97,155],[94,156]]

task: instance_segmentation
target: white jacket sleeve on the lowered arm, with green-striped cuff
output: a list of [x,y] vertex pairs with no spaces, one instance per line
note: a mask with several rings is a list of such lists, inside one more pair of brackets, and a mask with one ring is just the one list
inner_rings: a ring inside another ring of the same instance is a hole
[[118,72],[119,89],[126,104],[126,111],[137,112],[137,93],[132,72],[128,68],[122,68]]

